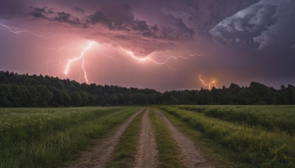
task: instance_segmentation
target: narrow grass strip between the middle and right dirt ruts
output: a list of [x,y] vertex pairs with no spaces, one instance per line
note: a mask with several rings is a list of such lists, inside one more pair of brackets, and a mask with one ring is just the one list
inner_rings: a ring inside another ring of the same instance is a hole
[[177,142],[172,138],[171,132],[154,110],[149,113],[156,136],[158,160],[161,168],[183,168],[180,161],[180,151]]

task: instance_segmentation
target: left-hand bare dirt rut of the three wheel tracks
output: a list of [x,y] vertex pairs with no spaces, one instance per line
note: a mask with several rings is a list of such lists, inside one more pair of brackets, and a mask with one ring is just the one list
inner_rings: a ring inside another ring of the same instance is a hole
[[128,125],[134,120],[134,118],[140,114],[143,110],[140,110],[133,116],[131,116],[123,125],[121,125],[114,134],[101,140],[101,143],[95,144],[89,147],[89,151],[86,151],[77,158],[77,162],[72,165],[68,165],[68,168],[104,168],[110,161],[115,146],[118,144],[118,140],[126,130]]

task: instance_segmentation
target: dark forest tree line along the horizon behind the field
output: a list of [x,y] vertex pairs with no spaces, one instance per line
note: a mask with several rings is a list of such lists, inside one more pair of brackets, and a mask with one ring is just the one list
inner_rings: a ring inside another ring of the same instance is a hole
[[154,89],[78,83],[48,75],[0,71],[0,107],[68,107],[138,104],[295,104],[295,87],[249,87],[157,92]]

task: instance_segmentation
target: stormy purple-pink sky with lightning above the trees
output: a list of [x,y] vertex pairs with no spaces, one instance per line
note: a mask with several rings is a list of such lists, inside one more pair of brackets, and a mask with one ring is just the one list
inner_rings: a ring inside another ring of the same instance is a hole
[[1,0],[0,71],[161,92],[295,85],[295,0]]

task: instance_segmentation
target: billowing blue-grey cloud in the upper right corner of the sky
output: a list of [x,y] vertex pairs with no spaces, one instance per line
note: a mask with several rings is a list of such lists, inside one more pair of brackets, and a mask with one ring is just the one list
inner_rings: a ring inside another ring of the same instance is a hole
[[280,5],[257,4],[250,13],[226,25],[216,25],[212,35],[226,43],[264,50],[290,49],[295,44],[295,1]]

